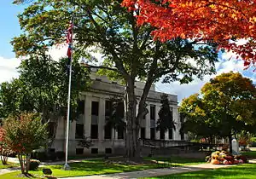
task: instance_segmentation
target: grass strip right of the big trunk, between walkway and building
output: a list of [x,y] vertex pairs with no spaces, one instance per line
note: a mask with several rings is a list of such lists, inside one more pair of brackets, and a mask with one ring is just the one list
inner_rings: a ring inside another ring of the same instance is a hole
[[204,159],[188,159],[182,158],[177,156],[172,156],[171,158],[145,158],[147,160],[154,160],[154,161],[167,161],[171,162],[172,166],[183,166],[183,165],[197,165],[201,163],[205,163]]

